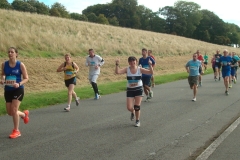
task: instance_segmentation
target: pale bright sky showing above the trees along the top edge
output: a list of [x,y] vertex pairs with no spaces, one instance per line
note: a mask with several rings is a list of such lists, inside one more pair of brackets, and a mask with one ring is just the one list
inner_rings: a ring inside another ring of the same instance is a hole
[[[13,0],[8,0],[12,3]],[[82,10],[95,4],[111,3],[112,0],[38,0],[51,7],[55,2],[61,3],[70,13],[76,12],[82,14]],[[177,0],[138,0],[138,5],[144,5],[153,12],[165,6],[173,6]],[[207,9],[214,12],[224,22],[234,23],[240,27],[239,0],[184,0],[195,2],[201,6],[201,9]]]

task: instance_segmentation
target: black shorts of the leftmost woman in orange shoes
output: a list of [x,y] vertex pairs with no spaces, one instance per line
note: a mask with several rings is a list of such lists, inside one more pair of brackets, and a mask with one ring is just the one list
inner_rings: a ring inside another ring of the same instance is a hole
[[4,98],[7,103],[12,102],[12,100],[14,100],[14,99],[22,101],[23,97],[24,97],[24,89],[23,88],[17,88],[15,90],[4,91]]

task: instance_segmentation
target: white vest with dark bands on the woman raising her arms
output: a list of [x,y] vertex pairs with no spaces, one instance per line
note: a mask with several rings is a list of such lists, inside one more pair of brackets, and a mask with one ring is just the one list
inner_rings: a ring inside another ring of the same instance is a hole
[[132,74],[130,67],[127,68],[127,88],[142,88],[142,73],[140,67],[137,68],[137,72]]

